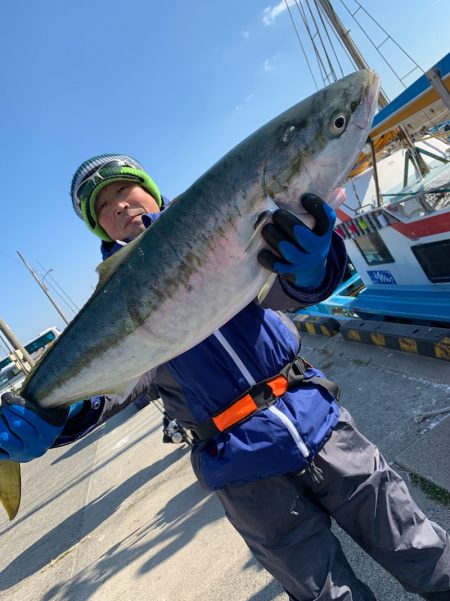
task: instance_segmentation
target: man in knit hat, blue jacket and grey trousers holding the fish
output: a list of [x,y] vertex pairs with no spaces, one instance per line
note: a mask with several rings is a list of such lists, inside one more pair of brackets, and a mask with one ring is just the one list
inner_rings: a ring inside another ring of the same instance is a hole
[[[101,238],[104,257],[151,227],[168,204],[126,155],[85,161],[71,195],[78,216]],[[144,374],[124,403],[85,401],[55,424],[25,400],[3,398],[0,448],[7,458],[30,460],[85,435],[152,384],[170,415],[194,433],[199,482],[216,491],[232,525],[291,601],[375,599],[331,533],[331,517],[407,590],[450,599],[448,534],[424,516],[358,432],[337,403],[336,385],[298,357],[295,327],[272,310],[326,298],[345,269],[334,212],[313,195],[301,203],[315,218],[312,231],[282,210],[262,230],[268,248],[259,261],[278,274],[262,304],[250,303],[206,340]],[[249,402],[254,409],[242,414]]]

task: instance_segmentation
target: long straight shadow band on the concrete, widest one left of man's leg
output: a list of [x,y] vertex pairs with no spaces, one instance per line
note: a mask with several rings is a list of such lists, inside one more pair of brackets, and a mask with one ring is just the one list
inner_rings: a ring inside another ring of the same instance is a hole
[[[177,448],[170,455],[141,470],[111,492],[103,494],[83,509],[72,514],[45,534],[26,551],[13,559],[0,574],[0,590],[6,590],[44,568],[66,552],[111,516],[112,513],[141,486],[169,468],[189,452]],[[86,524],[88,526],[86,527]]]

